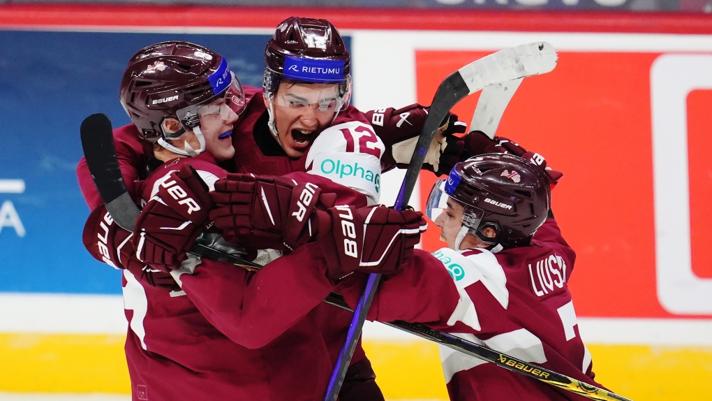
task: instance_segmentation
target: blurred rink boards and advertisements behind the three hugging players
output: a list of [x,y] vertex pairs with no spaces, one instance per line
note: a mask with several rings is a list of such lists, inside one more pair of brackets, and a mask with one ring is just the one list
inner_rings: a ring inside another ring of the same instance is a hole
[[[551,43],[557,68],[524,80],[498,135],[565,173],[553,210],[577,251],[570,288],[597,380],[634,400],[710,399],[711,12],[710,0],[0,0],[0,400],[130,399],[120,272],[81,243],[83,118],[129,122],[120,76],[158,41],[212,48],[261,86],[264,45],[292,15],[340,29],[361,110],[429,105],[466,63]],[[454,113],[469,123],[477,98]],[[422,175],[411,204],[433,181]],[[447,399],[436,345],[373,323],[364,347],[388,400]]]

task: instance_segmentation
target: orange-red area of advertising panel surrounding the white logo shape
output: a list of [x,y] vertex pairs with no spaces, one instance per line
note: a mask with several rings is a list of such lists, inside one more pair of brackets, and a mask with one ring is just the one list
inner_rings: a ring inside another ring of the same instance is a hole
[[[446,75],[488,53],[417,51],[419,103],[431,102]],[[523,81],[497,132],[565,173],[553,212],[577,251],[570,288],[578,316],[680,316],[666,311],[656,291],[650,77],[659,56],[560,52],[553,72]],[[477,98],[462,100],[453,112],[469,123]],[[691,255],[701,278],[712,276],[711,104],[709,90],[694,90],[687,100]],[[424,197],[433,180],[424,175]],[[437,237],[437,229],[429,230],[424,248],[437,249]]]

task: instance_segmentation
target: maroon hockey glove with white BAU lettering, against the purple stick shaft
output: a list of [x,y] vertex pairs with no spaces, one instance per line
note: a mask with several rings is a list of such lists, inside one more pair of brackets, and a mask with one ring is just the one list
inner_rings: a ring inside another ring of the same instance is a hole
[[427,227],[421,212],[399,212],[383,205],[344,205],[317,214],[319,242],[333,280],[354,271],[391,274],[401,270]]

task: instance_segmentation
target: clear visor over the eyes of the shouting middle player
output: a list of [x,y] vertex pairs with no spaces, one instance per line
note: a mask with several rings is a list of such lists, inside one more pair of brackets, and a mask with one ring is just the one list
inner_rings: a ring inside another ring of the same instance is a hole
[[328,85],[327,88],[311,86],[295,84],[288,86],[286,90],[279,90],[273,98],[273,103],[294,111],[313,108],[319,113],[336,113],[344,105],[346,100],[339,95],[338,85]]

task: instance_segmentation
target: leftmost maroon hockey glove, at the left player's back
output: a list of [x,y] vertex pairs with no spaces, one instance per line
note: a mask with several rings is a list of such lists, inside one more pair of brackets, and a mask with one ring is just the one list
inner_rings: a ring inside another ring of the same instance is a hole
[[111,218],[106,207],[97,207],[84,226],[83,242],[94,259],[114,269],[127,269],[140,281],[166,291],[179,291],[180,287],[167,273],[150,269],[136,257],[130,231],[122,229]]

